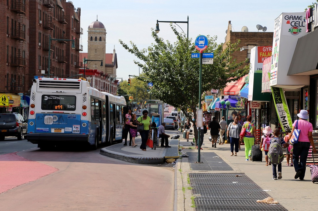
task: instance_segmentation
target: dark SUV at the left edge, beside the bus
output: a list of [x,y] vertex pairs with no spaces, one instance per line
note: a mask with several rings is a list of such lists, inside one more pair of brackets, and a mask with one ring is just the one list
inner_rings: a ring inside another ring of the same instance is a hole
[[23,135],[28,131],[28,123],[24,121],[19,113],[1,113],[0,114],[0,140],[3,141],[6,136],[16,136],[22,140]]

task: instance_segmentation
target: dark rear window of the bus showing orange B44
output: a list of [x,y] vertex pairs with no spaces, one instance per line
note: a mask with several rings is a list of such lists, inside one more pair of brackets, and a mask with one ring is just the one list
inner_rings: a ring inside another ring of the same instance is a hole
[[76,96],[44,94],[42,95],[41,109],[54,111],[75,111]]

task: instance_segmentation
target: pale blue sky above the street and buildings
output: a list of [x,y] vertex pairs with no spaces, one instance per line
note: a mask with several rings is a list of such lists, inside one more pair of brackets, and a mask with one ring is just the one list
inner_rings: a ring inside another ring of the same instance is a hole
[[[117,54],[117,77],[128,80],[128,75],[138,75],[139,68],[134,64],[137,58],[125,50],[118,40],[130,46],[130,41],[139,49],[147,48],[154,40],[151,28],[156,21],[187,21],[189,16],[189,38],[192,42],[198,35],[217,35],[218,43],[223,43],[228,21],[232,31],[240,32],[246,26],[249,32],[256,32],[256,25],[267,27],[266,32],[273,32],[274,20],[282,12],[304,12],[313,0],[73,0],[75,8],[81,8],[80,25],[83,28],[83,51],[87,52],[87,29],[89,24],[102,22],[106,28],[106,53]],[[187,33],[187,23],[178,23]],[[159,23],[158,36],[170,42],[176,36],[169,23]],[[178,32],[182,30],[176,26]],[[260,32],[261,33],[261,32]],[[138,60],[137,60],[138,61]],[[141,72],[142,70],[140,70]]]

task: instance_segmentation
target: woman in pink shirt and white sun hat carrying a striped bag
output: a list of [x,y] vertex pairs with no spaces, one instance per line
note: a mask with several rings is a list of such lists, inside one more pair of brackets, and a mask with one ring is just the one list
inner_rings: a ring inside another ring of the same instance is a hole
[[[306,161],[310,144],[313,147],[314,153],[316,153],[317,150],[313,139],[313,125],[307,121],[309,118],[308,111],[301,110],[297,116],[299,117],[299,120],[294,122],[291,134],[293,134],[295,128],[300,129],[301,131],[298,142],[293,145],[293,163],[296,171],[295,179],[299,178],[300,180],[303,180],[305,177]],[[288,140],[290,140],[291,137],[292,136],[290,136]]]

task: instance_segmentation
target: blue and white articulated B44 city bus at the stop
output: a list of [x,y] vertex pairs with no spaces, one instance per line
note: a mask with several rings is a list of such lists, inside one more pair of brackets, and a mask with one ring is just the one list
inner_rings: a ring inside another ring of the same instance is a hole
[[35,79],[27,139],[41,149],[55,144],[122,142],[126,100],[78,79]]

